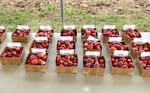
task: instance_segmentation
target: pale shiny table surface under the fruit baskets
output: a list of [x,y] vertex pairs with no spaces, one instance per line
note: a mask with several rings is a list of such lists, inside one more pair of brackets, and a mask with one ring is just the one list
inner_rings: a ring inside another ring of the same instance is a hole
[[[11,42],[11,33],[7,39],[0,44],[0,51]],[[99,35],[100,38],[101,35]],[[150,33],[142,32],[142,36],[149,39]],[[29,53],[32,42],[23,44],[26,48],[25,57]],[[25,72],[24,61],[20,65],[0,64],[0,93],[150,93],[150,78],[141,77],[137,66],[133,76],[112,75],[106,44],[103,44],[103,55],[106,58],[106,70],[104,76],[92,76],[82,74],[82,43],[78,34],[76,51],[79,57],[78,73],[56,73],[55,57],[56,42],[60,34],[55,33],[53,43],[49,51],[49,63],[45,73]]]

